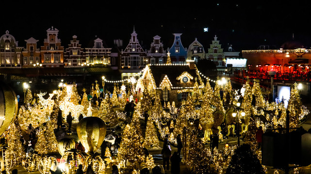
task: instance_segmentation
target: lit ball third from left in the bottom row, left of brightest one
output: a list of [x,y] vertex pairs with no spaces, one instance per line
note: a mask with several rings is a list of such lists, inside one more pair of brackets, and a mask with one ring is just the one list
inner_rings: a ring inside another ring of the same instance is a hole
[[49,174],[49,170],[56,171],[57,160],[52,156],[45,156],[39,160],[38,169],[41,174]]

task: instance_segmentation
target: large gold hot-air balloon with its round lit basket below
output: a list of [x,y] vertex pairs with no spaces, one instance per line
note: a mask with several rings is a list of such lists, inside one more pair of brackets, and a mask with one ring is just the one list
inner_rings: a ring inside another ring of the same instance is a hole
[[105,163],[98,153],[95,153],[106,135],[106,124],[96,116],[82,118],[77,125],[77,134],[81,144],[88,151],[85,165],[91,166],[94,173],[98,174],[105,170]]

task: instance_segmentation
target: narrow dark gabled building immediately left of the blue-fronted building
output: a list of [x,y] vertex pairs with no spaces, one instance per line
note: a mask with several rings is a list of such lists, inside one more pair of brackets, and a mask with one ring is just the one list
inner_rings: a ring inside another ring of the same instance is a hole
[[156,35],[153,37],[153,42],[150,44],[150,49],[147,51],[147,58],[150,60],[149,64],[163,64],[166,59],[166,53],[161,42],[161,37]]

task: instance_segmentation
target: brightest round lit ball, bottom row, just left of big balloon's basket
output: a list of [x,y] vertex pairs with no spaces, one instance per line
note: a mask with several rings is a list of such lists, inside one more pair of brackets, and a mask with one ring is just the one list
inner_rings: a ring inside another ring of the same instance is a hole
[[61,158],[59,166],[63,173],[65,174],[76,174],[79,165],[82,164],[82,170],[85,171],[85,160],[84,156],[77,151],[77,149],[71,149],[65,151]]

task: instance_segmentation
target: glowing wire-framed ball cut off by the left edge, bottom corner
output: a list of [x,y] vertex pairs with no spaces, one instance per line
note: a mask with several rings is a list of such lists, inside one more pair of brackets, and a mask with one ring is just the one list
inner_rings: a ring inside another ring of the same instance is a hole
[[0,147],[0,171],[9,171],[15,165],[15,153],[12,149],[3,145]]

